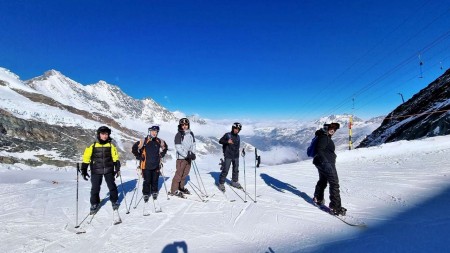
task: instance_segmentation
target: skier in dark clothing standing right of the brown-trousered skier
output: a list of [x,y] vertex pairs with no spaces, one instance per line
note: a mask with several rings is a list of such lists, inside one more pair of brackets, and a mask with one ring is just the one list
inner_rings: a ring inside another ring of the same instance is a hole
[[231,177],[231,186],[242,189],[239,183],[239,148],[241,141],[239,138],[239,132],[242,129],[242,125],[239,122],[233,123],[231,126],[231,132],[225,133],[220,138],[219,143],[222,144],[223,156],[225,161],[223,163],[222,172],[219,177],[219,189],[225,191],[225,179],[230,170],[231,164],[233,164],[233,174]]

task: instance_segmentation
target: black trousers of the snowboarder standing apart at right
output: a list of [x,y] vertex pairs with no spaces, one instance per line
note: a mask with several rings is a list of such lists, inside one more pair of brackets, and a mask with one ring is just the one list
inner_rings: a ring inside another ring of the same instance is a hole
[[341,196],[339,192],[339,178],[336,171],[336,165],[330,163],[322,163],[316,165],[319,171],[319,181],[316,184],[316,190],[314,191],[314,197],[318,200],[323,199],[325,188],[327,183],[330,184],[330,208],[341,207]]

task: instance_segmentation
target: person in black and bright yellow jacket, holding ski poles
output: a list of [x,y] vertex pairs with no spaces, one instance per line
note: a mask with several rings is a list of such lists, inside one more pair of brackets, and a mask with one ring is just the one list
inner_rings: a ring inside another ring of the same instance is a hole
[[[119,195],[114,176],[120,176],[120,161],[117,148],[111,143],[111,129],[101,126],[97,130],[97,141],[84,150],[81,175],[84,180],[91,178],[91,214],[100,207],[100,186],[103,177],[109,189],[109,198],[114,210],[119,208]],[[91,176],[87,169],[91,167]]]

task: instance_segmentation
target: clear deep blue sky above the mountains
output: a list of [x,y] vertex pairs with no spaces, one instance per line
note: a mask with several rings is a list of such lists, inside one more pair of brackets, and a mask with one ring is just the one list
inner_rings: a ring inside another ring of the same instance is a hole
[[450,67],[450,0],[0,3],[22,80],[56,69],[204,118],[368,119]]

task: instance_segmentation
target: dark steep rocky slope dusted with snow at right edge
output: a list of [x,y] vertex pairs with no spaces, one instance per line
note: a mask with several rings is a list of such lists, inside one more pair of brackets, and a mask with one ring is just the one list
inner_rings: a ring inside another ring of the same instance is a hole
[[450,134],[450,69],[398,106],[359,147]]

